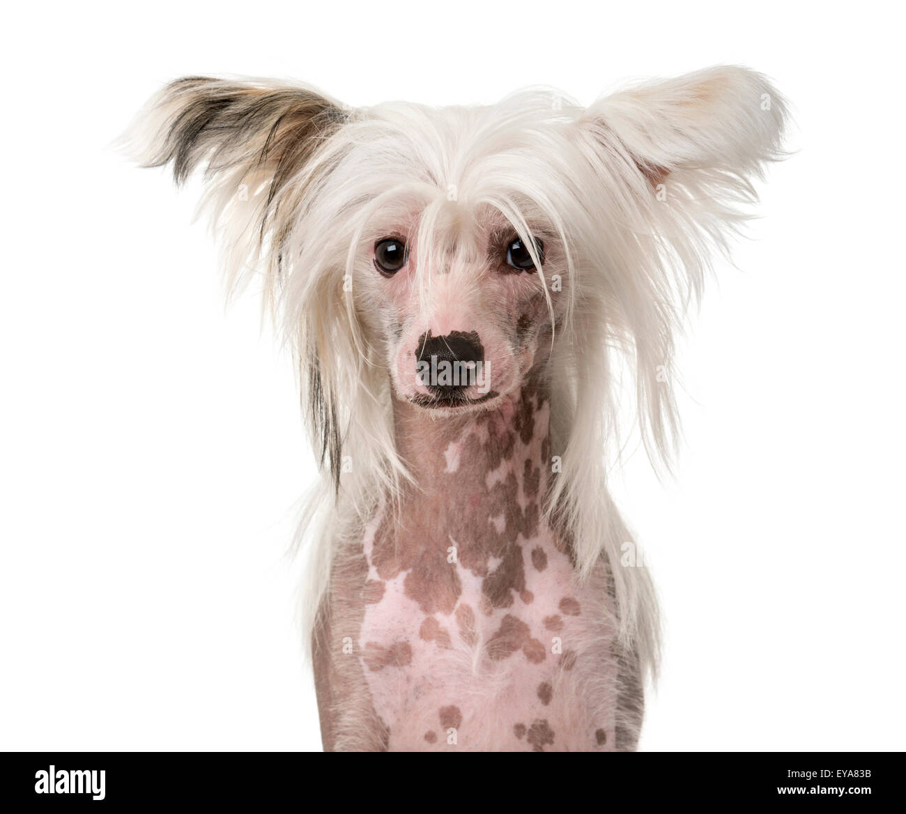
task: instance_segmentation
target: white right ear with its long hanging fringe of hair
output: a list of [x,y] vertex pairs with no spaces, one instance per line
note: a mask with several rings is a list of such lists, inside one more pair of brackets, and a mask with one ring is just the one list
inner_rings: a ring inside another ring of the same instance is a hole
[[602,193],[607,344],[630,349],[651,460],[669,464],[677,441],[673,336],[714,250],[727,254],[749,217],[752,179],[784,157],[786,119],[764,76],[717,67],[603,97],[574,122],[586,183]]

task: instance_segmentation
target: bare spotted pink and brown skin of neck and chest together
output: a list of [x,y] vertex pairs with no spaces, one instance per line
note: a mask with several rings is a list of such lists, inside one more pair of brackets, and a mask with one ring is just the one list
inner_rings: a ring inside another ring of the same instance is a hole
[[606,567],[580,582],[544,518],[549,404],[535,384],[444,421],[395,402],[419,486],[334,564],[315,630],[326,749],[634,747]]

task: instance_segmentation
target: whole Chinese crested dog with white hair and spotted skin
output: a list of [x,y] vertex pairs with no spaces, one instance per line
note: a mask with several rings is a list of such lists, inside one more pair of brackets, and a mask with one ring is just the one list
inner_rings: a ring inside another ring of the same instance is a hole
[[228,285],[301,371],[325,749],[635,748],[659,623],[607,489],[617,408],[669,461],[673,335],[785,120],[737,67],[587,108],[204,77],[149,102],[130,149],[202,172]]

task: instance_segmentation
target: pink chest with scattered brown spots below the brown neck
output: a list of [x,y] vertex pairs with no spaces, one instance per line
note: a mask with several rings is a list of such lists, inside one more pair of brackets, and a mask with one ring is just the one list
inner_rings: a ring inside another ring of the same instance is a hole
[[503,561],[492,561],[487,576],[450,563],[415,596],[411,572],[372,588],[358,653],[390,750],[587,751],[613,743],[613,705],[601,693],[615,682],[606,594],[600,584],[576,584],[550,536],[526,540],[518,553],[525,575],[509,600],[496,588],[489,598],[487,586]]

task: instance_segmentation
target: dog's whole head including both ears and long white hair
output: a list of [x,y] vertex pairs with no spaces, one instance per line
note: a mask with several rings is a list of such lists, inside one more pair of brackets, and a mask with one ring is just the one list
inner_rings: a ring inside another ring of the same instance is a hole
[[776,157],[785,107],[761,75],[716,68],[587,109],[545,91],[348,109],[189,78],[147,115],[142,159],[178,180],[204,168],[233,284],[261,274],[279,305],[338,477],[344,444],[386,469],[392,399],[489,410],[529,376],[568,413],[581,468],[617,352],[646,438],[667,444],[673,331]]

